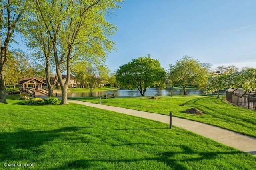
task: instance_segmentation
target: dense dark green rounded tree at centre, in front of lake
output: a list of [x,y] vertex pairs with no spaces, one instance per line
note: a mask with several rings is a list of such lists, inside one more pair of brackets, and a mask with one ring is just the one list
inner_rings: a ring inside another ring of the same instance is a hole
[[156,59],[150,55],[133,59],[119,67],[116,71],[116,81],[121,88],[137,88],[141,96],[151,86],[164,84],[166,72]]

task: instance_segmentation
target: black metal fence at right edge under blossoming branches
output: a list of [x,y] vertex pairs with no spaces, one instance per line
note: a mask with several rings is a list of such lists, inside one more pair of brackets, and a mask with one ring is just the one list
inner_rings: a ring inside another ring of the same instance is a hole
[[256,94],[245,94],[240,97],[239,94],[226,91],[226,99],[236,106],[256,110]]

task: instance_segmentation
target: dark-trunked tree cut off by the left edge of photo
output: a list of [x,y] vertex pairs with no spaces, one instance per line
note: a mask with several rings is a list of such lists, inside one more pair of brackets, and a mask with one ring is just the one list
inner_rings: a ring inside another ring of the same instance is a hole
[[7,103],[4,67],[8,60],[8,46],[24,13],[25,3],[26,0],[0,1],[0,103]]

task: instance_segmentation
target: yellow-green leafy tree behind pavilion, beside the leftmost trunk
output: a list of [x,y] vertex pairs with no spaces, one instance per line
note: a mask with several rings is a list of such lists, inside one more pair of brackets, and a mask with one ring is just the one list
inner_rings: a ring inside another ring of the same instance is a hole
[[16,87],[20,78],[30,77],[33,75],[32,67],[26,54],[22,51],[9,52],[6,63],[6,84]]

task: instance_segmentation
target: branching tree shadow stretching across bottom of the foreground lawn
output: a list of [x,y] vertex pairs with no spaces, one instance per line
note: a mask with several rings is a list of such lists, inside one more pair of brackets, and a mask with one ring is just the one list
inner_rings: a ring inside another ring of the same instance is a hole
[[[192,150],[190,147],[186,145],[176,146],[179,147],[182,151],[177,152],[160,152],[159,154],[156,154],[154,157],[151,158],[130,158],[130,159],[79,159],[69,162],[66,166],[56,167],[56,168],[49,168],[47,170],[59,170],[59,169],[109,169],[109,164],[124,164],[127,165],[127,168],[130,168],[129,164],[138,163],[138,167],[136,169],[140,169],[140,165],[142,165],[142,162],[145,161],[153,161],[153,162],[162,162],[166,166],[168,166],[171,169],[179,169],[179,170],[187,170],[190,169],[189,162],[200,162],[204,159],[213,159],[219,156],[220,154],[226,154],[226,155],[232,155],[232,154],[238,154],[241,153],[239,151],[231,151],[231,152],[197,152]],[[182,158],[176,155],[182,154]],[[191,156],[192,155],[192,156]],[[196,156],[195,156],[196,155]],[[104,167],[108,164],[108,167]],[[148,164],[150,165],[150,163]],[[200,163],[199,163],[200,165]],[[145,168],[146,165],[143,166]],[[204,165],[202,165],[201,168],[203,168]],[[148,168],[152,169],[152,166],[149,166]],[[157,168],[157,167],[155,167]],[[201,169],[200,167],[197,167]]]

